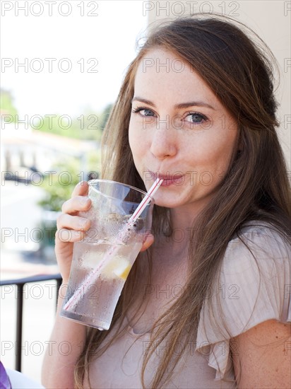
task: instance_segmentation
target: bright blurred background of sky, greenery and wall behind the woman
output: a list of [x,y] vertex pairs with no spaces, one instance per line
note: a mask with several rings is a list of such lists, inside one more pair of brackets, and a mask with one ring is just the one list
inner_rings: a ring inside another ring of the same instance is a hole
[[[280,140],[290,161],[290,1],[1,1],[1,279],[56,274],[54,231],[80,180],[97,178],[100,138],[136,42],[151,23],[231,16],[280,67]],[[1,288],[1,361],[14,368],[16,286]],[[55,281],[25,286],[22,371],[40,381]]]

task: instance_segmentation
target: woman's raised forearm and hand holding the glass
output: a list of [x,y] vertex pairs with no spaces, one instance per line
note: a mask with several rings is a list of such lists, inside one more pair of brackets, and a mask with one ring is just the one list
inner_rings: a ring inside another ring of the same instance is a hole
[[[74,387],[74,367],[85,342],[85,325],[61,318],[59,312],[66,295],[73,242],[81,240],[83,232],[79,231],[86,231],[90,226],[90,221],[78,216],[78,211],[85,211],[90,207],[90,200],[85,197],[86,194],[88,194],[87,182],[78,184],[71,199],[64,203],[63,213],[57,220],[55,251],[59,270],[63,277],[63,285],[59,290],[54,329],[42,364],[42,384],[48,389]],[[60,233],[63,230],[69,231],[71,237],[69,240],[61,240],[62,236],[66,236],[66,238],[68,236],[68,234]]]

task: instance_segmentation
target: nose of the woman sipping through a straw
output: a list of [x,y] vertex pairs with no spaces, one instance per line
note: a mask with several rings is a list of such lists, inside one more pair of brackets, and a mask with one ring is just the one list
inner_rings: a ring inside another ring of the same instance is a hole
[[174,130],[165,127],[154,129],[150,151],[158,159],[174,156],[177,153],[177,139]]

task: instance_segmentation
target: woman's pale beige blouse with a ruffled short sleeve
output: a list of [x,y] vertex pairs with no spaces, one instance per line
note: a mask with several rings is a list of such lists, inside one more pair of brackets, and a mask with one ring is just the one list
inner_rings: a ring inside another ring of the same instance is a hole
[[[236,388],[229,352],[230,338],[265,320],[291,322],[290,245],[266,223],[259,226],[248,223],[241,238],[251,251],[239,238],[230,241],[221,272],[213,285],[213,294],[201,310],[196,344],[186,347],[186,353],[174,369],[172,381],[165,388]],[[212,313],[208,308],[210,299]],[[218,301],[223,320],[218,315]],[[92,388],[142,388],[141,364],[145,350],[150,346],[149,333],[136,335],[127,325],[126,334],[90,366]],[[167,344],[160,344],[149,362],[145,371],[146,383],[153,376],[163,347]]]

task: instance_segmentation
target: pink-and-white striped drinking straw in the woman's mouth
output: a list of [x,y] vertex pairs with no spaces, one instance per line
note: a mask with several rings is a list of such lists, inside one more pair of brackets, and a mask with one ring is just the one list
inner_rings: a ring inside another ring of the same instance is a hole
[[[162,181],[163,181],[162,178],[157,178],[153,183],[153,185],[150,187],[150,190],[147,192],[147,194],[145,194],[145,197],[143,197],[143,200],[136,208],[136,211],[133,212],[133,214],[129,218],[129,221],[127,221],[126,226],[124,226],[124,228],[121,230],[119,234],[121,240],[128,232],[129,226],[132,226],[133,223],[135,223],[135,221],[141,215],[145,207],[148,205],[148,203],[150,202],[150,197],[153,196],[153,194],[155,194],[155,192],[158,190],[158,187],[160,187]],[[100,264],[94,269],[93,272],[88,274],[88,276],[85,278],[85,281],[82,284],[82,288],[78,288],[74,292],[73,296],[71,296],[71,298],[69,298],[69,300],[66,302],[66,304],[64,305],[64,310],[68,310],[69,308],[71,308],[71,306],[74,306],[76,303],[78,303],[79,299],[82,296],[82,290],[85,291],[85,288],[93,284],[94,279],[97,277],[98,273],[100,272],[100,269],[102,269],[103,265],[105,265],[105,262],[107,262],[108,258],[111,257],[112,254],[115,254],[117,250],[118,250],[118,246],[114,245],[107,251]]]

